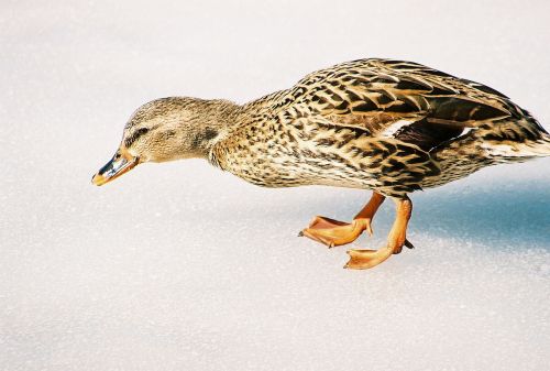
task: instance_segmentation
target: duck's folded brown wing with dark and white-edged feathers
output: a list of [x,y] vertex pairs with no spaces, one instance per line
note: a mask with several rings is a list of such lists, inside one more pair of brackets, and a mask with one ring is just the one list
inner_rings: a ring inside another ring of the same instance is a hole
[[279,102],[427,152],[481,124],[528,116],[487,86],[393,59],[360,59],[309,74]]

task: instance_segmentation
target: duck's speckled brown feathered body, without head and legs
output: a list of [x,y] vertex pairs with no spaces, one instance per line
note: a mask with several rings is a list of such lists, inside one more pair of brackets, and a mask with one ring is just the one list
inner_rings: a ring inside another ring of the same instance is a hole
[[403,197],[495,163],[549,155],[549,137],[506,96],[416,63],[361,59],[242,106],[211,148],[261,186],[332,185]]

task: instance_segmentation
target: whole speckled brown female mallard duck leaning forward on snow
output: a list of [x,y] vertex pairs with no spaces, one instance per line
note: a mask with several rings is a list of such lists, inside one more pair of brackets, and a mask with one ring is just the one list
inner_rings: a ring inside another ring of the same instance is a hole
[[505,95],[417,63],[361,59],[243,106],[179,97],[145,103],[92,182],[143,162],[202,157],[266,187],[372,189],[352,222],[316,217],[300,232],[329,247],[350,243],[372,233],[376,210],[392,197],[397,212],[386,247],[348,251],[345,268],[367,269],[413,248],[408,193],[546,155],[550,135]]

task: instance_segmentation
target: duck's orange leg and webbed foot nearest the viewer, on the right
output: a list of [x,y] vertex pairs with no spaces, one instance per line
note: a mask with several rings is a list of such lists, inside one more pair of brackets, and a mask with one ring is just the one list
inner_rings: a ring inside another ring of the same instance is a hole
[[394,253],[399,253],[404,245],[413,248],[413,244],[407,241],[407,225],[413,212],[413,203],[405,198],[395,198],[396,217],[392,230],[387,237],[386,247],[380,250],[348,250],[350,261],[344,268],[352,270],[365,270],[378,265]]

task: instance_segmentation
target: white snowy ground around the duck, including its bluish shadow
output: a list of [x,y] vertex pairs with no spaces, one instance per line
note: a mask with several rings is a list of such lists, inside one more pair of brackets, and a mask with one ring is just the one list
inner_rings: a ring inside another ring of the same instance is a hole
[[[296,234],[365,192],[256,188],[201,161],[89,182],[147,100],[243,102],[367,56],[486,83],[548,128],[549,13],[2,1],[0,370],[548,370],[550,159],[415,194],[417,249],[362,272]],[[382,245],[389,204],[360,245]]]

